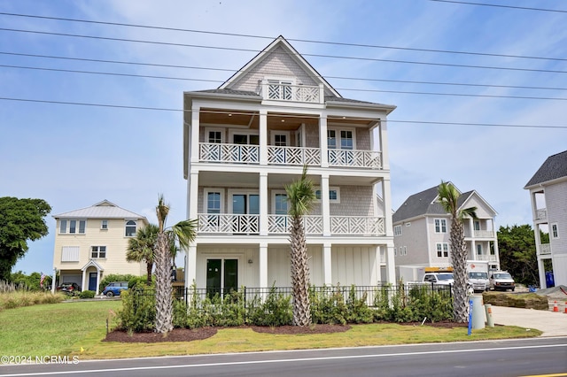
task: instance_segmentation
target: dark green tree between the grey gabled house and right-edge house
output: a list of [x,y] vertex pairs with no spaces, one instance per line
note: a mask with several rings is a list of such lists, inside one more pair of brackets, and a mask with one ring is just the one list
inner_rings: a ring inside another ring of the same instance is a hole
[[[501,269],[508,271],[519,283],[537,285],[540,278],[532,226],[500,227],[497,235]],[[541,235],[544,243],[546,236]]]

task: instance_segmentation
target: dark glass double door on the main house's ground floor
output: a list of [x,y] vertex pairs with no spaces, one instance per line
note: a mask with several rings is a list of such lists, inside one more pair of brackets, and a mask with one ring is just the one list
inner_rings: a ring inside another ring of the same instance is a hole
[[238,259],[206,259],[206,293],[226,295],[238,290]]

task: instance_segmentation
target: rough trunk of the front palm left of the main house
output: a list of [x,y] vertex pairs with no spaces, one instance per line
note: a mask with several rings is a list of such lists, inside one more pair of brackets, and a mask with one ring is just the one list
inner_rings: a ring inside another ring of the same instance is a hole
[[169,239],[160,232],[156,252],[156,333],[165,334],[173,327],[173,302],[171,286],[171,257]]

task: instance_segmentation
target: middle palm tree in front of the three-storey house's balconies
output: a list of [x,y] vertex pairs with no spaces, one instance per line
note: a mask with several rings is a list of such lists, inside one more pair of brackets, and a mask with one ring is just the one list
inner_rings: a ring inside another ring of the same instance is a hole
[[299,181],[285,186],[291,216],[291,286],[293,295],[293,325],[311,325],[309,303],[309,265],[303,216],[310,212],[315,201],[313,182],[307,179],[307,165]]

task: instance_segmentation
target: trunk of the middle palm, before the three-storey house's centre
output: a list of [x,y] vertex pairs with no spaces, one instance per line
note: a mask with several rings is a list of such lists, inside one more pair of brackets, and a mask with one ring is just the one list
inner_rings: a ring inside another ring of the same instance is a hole
[[309,265],[305,230],[301,218],[292,219],[291,228],[291,286],[293,294],[293,325],[311,325],[311,304],[309,302]]

